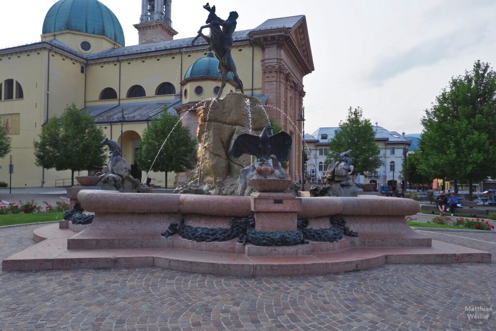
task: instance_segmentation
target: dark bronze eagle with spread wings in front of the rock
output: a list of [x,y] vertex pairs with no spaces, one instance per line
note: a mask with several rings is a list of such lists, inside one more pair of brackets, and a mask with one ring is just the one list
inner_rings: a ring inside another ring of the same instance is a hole
[[275,155],[279,161],[288,161],[293,138],[288,132],[269,135],[271,126],[266,126],[260,135],[241,133],[234,140],[228,154],[236,158],[243,154],[255,155],[258,159],[270,159]]

